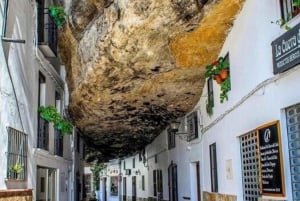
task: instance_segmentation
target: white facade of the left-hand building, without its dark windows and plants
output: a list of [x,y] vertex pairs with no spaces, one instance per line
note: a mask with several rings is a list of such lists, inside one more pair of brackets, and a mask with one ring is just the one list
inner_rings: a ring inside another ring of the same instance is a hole
[[[25,43],[0,41],[0,189],[33,189],[33,200],[74,200],[73,136],[63,137],[63,151],[57,154],[54,127],[50,123],[47,148],[38,145],[38,106],[56,106],[63,116],[68,103],[64,66],[55,68],[45,49],[42,51],[38,45],[36,1],[6,0],[0,6],[2,37],[25,40]],[[42,84],[41,75],[45,79]],[[56,93],[60,95],[59,100]],[[27,134],[24,179],[8,176],[7,127]]]

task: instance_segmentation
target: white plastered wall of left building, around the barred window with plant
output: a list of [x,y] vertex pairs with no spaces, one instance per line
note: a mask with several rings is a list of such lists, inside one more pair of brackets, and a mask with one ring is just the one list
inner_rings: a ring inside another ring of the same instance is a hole
[[[1,9],[3,11],[3,2]],[[3,14],[3,12],[1,12]],[[3,28],[3,17],[0,17],[1,30]],[[70,175],[72,166],[72,137],[64,138],[64,157],[54,156],[53,127],[50,126],[49,151],[36,149],[37,147],[37,118],[38,118],[38,77],[41,71],[46,77],[45,105],[55,104],[55,90],[64,92],[64,77],[60,77],[54,68],[46,60],[36,46],[36,20],[37,10],[35,3],[29,0],[9,1],[6,37],[23,39],[25,44],[3,42],[0,40],[0,189],[10,188],[32,188],[36,189],[37,166],[56,168],[60,179],[66,179]],[[3,52],[3,48],[5,54]],[[18,99],[20,114],[17,109],[12,82],[8,74],[5,56],[14,84]],[[63,96],[68,98],[68,94]],[[22,120],[22,123],[20,121]],[[28,134],[28,174],[27,181],[6,181],[6,155],[7,131],[10,126]],[[63,176],[65,175],[65,178]],[[60,185],[60,181],[58,185]],[[69,186],[68,186],[69,187]],[[58,186],[59,200],[68,200],[68,192],[63,192]],[[34,196],[35,197],[35,196]]]

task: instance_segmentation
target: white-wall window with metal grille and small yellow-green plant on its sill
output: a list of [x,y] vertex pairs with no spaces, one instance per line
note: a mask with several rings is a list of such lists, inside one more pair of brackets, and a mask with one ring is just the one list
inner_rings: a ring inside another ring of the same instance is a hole
[[7,179],[25,180],[27,176],[27,134],[8,127]]

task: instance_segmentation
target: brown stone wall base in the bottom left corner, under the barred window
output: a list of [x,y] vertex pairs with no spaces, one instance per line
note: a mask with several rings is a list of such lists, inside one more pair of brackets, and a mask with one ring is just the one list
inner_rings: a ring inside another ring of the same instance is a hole
[[1,201],[32,201],[32,189],[0,190]]

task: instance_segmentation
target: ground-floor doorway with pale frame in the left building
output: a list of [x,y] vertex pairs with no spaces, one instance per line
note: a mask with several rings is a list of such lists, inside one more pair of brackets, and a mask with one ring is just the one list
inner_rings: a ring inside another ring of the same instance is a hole
[[57,186],[56,169],[37,167],[37,201],[58,201]]

